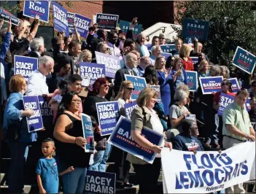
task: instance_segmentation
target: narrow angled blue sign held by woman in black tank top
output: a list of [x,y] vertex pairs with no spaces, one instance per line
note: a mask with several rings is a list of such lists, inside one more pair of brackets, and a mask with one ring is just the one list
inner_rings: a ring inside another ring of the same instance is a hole
[[85,144],[85,152],[93,152],[94,151],[94,136],[93,136],[93,123],[90,119],[90,116],[82,115],[82,133],[84,134],[84,138],[87,141]]

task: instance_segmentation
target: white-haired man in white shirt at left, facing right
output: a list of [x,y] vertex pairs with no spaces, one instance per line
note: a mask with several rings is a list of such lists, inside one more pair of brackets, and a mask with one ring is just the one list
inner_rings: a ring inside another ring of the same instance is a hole
[[43,56],[39,58],[39,66],[34,74],[28,78],[28,89],[26,95],[28,96],[52,96],[49,93],[48,86],[46,84],[46,76],[53,73],[54,61],[49,56]]

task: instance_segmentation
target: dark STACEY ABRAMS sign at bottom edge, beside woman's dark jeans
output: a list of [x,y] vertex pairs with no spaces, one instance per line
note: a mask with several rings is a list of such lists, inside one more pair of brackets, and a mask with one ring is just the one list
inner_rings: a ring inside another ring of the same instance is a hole
[[115,173],[86,171],[84,194],[115,194]]

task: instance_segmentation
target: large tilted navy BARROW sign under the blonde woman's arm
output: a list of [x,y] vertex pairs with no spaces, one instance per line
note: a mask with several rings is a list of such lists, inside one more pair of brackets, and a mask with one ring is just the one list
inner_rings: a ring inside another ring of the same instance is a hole
[[[160,134],[152,129],[143,127],[141,136],[144,136],[148,141],[155,145],[162,145],[163,134]],[[121,150],[135,155],[141,160],[147,161],[147,163],[153,163],[155,160],[155,152],[141,147],[131,138],[131,120],[121,116],[118,120],[115,131],[109,137],[109,143]]]

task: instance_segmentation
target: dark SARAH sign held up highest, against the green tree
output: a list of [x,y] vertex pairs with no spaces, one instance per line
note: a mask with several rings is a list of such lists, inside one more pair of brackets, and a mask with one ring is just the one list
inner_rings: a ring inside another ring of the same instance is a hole
[[209,22],[184,18],[182,36],[207,41]]

